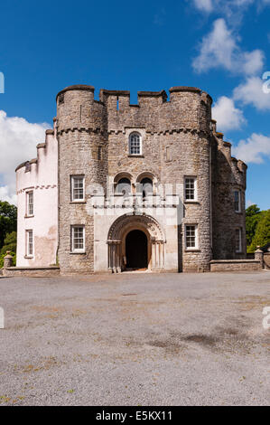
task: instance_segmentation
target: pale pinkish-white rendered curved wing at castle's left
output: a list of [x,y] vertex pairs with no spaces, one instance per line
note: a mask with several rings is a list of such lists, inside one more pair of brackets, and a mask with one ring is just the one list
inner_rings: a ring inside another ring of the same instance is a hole
[[[56,126],[46,130],[37,145],[37,157],[16,168],[18,203],[17,256],[20,267],[56,263],[58,244],[58,142]],[[27,211],[27,194],[33,192],[33,214]],[[33,255],[27,253],[27,233],[33,231]]]

